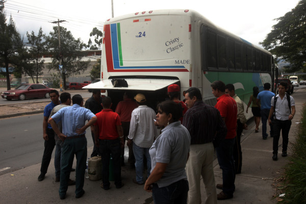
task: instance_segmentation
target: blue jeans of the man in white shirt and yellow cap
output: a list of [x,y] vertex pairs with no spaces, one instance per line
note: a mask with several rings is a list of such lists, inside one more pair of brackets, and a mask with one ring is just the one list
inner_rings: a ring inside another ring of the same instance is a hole
[[135,168],[136,168],[136,181],[137,183],[141,184],[144,182],[143,180],[143,155],[145,155],[147,159],[147,177],[150,176],[151,173],[151,157],[149,154],[150,148],[144,148],[137,146],[133,142],[133,151],[135,156]]

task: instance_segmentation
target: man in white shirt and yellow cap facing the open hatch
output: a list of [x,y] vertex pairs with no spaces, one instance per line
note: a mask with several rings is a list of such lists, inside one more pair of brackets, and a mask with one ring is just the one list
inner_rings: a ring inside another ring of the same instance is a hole
[[147,177],[151,172],[151,158],[149,149],[154,139],[158,136],[157,126],[154,125],[156,113],[153,109],[146,106],[146,98],[143,94],[138,93],[134,99],[139,105],[134,109],[131,117],[129,141],[127,145],[133,142],[133,151],[135,156],[136,179],[133,182],[139,185],[144,184],[143,180],[143,155],[147,160]]

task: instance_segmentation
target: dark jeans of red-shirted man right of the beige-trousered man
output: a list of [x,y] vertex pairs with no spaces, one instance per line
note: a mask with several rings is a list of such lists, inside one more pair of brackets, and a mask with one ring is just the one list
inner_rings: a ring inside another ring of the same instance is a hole
[[218,147],[216,147],[217,158],[222,169],[223,192],[227,196],[233,196],[235,191],[235,163],[233,157],[233,147],[236,138],[224,139]]

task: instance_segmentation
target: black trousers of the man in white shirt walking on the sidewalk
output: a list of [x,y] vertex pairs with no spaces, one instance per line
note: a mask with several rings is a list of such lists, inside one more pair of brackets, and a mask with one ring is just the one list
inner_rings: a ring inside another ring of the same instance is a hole
[[282,130],[282,137],[283,137],[283,151],[287,151],[290,127],[291,127],[291,120],[274,119],[273,121],[273,133],[274,133],[273,154],[277,154],[278,140],[279,140],[279,137],[281,137],[281,130]]

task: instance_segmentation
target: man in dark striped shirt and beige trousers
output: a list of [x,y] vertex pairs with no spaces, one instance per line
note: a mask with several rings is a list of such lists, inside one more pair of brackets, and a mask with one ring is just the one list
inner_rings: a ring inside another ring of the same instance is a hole
[[191,137],[190,156],[186,164],[188,203],[201,203],[201,176],[207,194],[205,203],[217,203],[213,170],[214,144],[225,138],[226,125],[219,111],[203,102],[198,88],[188,89],[185,99],[189,110],[184,115],[183,125]]

